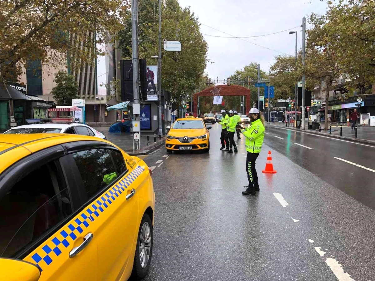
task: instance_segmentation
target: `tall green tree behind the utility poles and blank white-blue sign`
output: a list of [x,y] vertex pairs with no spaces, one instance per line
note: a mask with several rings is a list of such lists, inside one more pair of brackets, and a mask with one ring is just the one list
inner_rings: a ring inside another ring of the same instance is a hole
[[[171,93],[173,107],[190,99],[200,84],[207,64],[207,42],[199,31],[198,18],[188,7],[182,9],[177,0],[162,1],[162,40],[178,40],[181,52],[168,52],[162,48],[162,88]],[[139,1],[138,34],[139,58],[156,65],[150,57],[158,54],[157,3]],[[130,10],[124,15],[124,30],[119,32],[119,47],[124,59],[131,59]]]

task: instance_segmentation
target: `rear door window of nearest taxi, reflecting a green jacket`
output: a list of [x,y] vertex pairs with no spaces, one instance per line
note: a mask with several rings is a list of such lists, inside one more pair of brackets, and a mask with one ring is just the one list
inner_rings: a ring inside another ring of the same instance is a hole
[[107,149],[89,149],[72,155],[88,199],[117,179],[116,169]]

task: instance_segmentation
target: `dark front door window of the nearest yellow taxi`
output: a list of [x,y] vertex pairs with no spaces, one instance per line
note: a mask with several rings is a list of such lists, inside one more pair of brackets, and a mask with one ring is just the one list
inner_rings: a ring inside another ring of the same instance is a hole
[[57,162],[21,178],[0,198],[0,257],[15,257],[72,214]]

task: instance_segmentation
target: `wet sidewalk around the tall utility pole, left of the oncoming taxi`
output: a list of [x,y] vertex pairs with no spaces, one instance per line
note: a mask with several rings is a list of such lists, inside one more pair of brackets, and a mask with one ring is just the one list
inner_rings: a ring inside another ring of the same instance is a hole
[[[154,134],[147,134],[141,132],[141,139],[138,142],[140,143],[141,149],[136,150],[135,142],[134,142],[134,150],[133,150],[133,142],[132,142],[132,134],[130,133],[110,133],[108,130],[109,127],[93,127],[95,130],[102,132],[108,139],[108,141],[114,143],[124,151],[126,151],[129,155],[145,155],[149,154],[152,151],[156,150],[160,146],[163,146],[165,143],[165,138],[159,140],[159,137],[156,138],[156,143],[154,143]],[[150,136],[150,141],[147,145],[147,136]]]

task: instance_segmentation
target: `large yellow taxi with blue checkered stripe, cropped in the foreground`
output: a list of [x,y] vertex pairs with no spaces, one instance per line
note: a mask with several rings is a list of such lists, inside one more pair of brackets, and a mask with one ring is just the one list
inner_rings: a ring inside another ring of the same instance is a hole
[[143,278],[154,202],[147,165],[111,142],[0,135],[0,280]]

